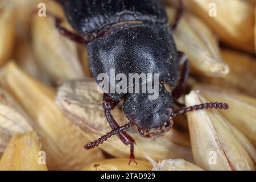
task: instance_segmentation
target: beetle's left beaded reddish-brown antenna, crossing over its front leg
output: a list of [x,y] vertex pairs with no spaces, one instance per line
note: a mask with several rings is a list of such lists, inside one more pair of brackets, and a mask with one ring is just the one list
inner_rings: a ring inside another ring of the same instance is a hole
[[134,124],[135,123],[133,121],[130,121],[129,123],[127,123],[123,126],[117,127],[115,129],[113,129],[112,131],[110,131],[109,133],[106,133],[105,135],[103,135],[101,138],[98,138],[97,140],[94,140],[93,142],[85,144],[84,148],[86,150],[94,148],[94,147],[98,146],[99,144],[102,144],[103,142],[105,142],[108,138],[112,137],[112,135],[115,135],[121,131],[125,131],[126,129],[133,127]]

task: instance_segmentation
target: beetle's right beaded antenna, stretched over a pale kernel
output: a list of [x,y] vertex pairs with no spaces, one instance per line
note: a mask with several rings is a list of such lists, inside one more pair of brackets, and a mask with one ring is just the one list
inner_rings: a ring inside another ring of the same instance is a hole
[[222,102],[207,102],[205,104],[199,104],[191,107],[187,107],[184,109],[176,110],[174,113],[172,113],[172,117],[175,117],[180,114],[185,114],[189,111],[194,111],[194,110],[200,110],[200,109],[208,109],[208,108],[215,108],[215,109],[229,109],[229,105],[226,103]]

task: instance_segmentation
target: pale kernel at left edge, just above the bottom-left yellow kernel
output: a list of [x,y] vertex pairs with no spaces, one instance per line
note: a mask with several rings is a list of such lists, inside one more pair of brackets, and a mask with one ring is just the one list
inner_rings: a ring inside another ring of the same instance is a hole
[[14,133],[32,130],[30,119],[11,96],[0,88],[0,154]]

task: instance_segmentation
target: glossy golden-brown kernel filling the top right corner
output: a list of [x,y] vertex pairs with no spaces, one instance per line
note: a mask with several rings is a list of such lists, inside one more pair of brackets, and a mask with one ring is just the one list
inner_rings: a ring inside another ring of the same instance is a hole
[[[254,6],[243,0],[183,1],[229,46],[254,53]],[[214,11],[216,10],[216,16]],[[200,29],[199,29],[200,30]]]

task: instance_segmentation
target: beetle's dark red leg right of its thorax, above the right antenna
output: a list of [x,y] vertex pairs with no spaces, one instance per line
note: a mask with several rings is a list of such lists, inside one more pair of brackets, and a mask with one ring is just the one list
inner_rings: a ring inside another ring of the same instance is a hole
[[[183,64],[182,71],[180,73],[179,82],[175,86],[174,90],[172,90],[172,97],[174,98],[174,101],[177,103],[177,99],[185,92],[185,85],[188,80],[188,73],[189,73],[189,64],[187,58],[184,59],[184,53],[179,52],[180,62]],[[184,63],[182,63],[184,61]],[[180,105],[179,103],[177,103]]]

